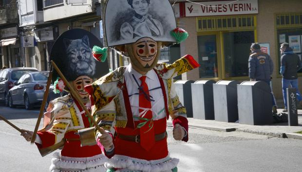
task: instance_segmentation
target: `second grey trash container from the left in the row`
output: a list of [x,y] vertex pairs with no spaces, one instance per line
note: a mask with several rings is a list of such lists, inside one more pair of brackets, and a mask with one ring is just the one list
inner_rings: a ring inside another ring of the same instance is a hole
[[214,119],[214,80],[198,80],[191,84],[193,118]]

